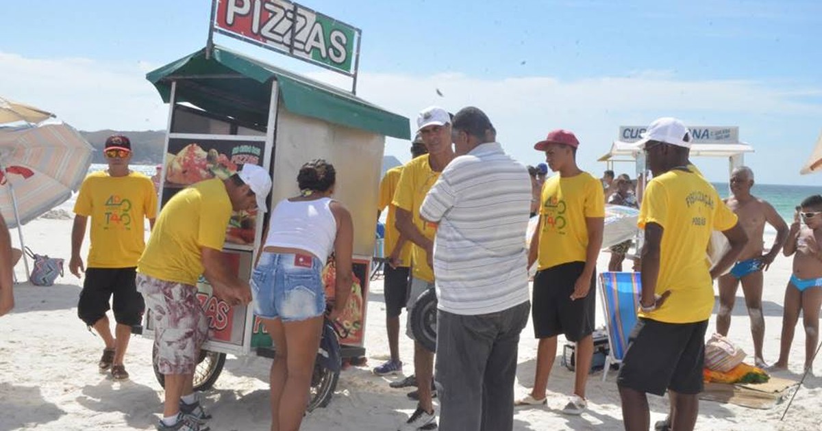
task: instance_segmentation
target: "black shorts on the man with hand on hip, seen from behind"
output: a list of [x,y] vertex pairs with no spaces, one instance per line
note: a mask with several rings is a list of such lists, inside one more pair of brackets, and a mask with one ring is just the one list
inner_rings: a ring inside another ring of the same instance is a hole
[[666,389],[686,395],[702,392],[707,328],[707,320],[664,323],[638,319],[628,338],[617,384],[659,396]]

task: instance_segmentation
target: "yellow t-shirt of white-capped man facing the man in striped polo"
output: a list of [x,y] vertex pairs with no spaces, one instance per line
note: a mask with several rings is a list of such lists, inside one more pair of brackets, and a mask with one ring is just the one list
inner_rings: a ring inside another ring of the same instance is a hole
[[[428,164],[428,154],[414,158],[409,163],[405,163],[403,172],[399,175],[397,190],[392,202],[397,208],[409,211],[414,226],[423,236],[432,241],[436,235],[436,224],[423,221],[423,218],[419,216],[419,207],[423,204],[428,190],[431,190],[439,177],[440,172],[434,172]],[[434,281],[434,271],[428,266],[425,250],[416,244],[411,247],[411,262],[413,277],[426,282]]]

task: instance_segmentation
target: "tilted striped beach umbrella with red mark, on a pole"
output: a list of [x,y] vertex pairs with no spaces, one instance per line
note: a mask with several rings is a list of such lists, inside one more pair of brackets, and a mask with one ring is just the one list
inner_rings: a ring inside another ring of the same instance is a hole
[[[17,227],[62,204],[76,191],[91,164],[91,145],[72,126],[44,122],[0,128],[0,213]],[[29,264],[23,254],[25,273]]]

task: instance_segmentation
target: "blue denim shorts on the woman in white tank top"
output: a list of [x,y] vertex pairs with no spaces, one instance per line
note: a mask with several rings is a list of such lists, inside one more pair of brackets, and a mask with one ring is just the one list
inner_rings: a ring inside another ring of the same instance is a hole
[[321,316],[326,311],[323,265],[311,254],[264,251],[252,272],[254,314],[284,322]]

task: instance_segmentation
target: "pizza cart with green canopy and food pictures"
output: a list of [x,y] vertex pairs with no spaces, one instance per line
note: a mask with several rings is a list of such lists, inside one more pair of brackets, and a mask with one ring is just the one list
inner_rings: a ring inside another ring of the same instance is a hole
[[[245,15],[240,13],[242,9],[236,10],[235,3],[247,2],[215,0],[214,3],[210,32],[254,43],[255,40],[246,35],[251,34],[251,30],[243,30],[242,25],[274,19],[275,12],[270,11],[273,7],[291,8],[292,16],[298,16],[298,23],[304,27],[314,26],[311,34],[315,37],[316,34],[330,38],[344,34],[348,45],[335,52],[336,57],[326,58],[333,64],[322,66],[350,70],[346,75],[353,78],[354,84],[351,92],[321,84],[212,44],[210,34],[204,49],[146,76],[163,101],[169,103],[159,205],[162,208],[179,190],[197,181],[226,178],[242,164],[255,163],[265,167],[273,179],[267,199],[271,209],[279,200],[298,195],[296,178],[303,163],[312,158],[325,158],[333,163],[337,171],[335,199],[349,208],[354,224],[355,281],[349,306],[337,321],[337,332],[342,357],[362,357],[385,138],[408,140],[409,120],[353,94],[356,88],[356,58],[353,57],[357,55],[353,47],[355,41],[358,45],[359,30],[281,0],[271,0],[271,8],[244,11]],[[252,16],[252,12],[262,16]],[[229,21],[233,24],[229,25]],[[302,30],[288,30],[297,42],[299,31]],[[297,45],[289,44],[287,51],[311,48],[304,39],[302,48]],[[328,45],[326,54],[331,54],[332,47]],[[344,58],[339,57],[340,53]],[[243,280],[250,278],[267,220],[268,213],[237,212],[226,227],[224,259]],[[333,295],[333,277],[334,268],[329,265],[323,273],[329,295]],[[211,295],[204,277],[197,287],[210,325],[210,337],[203,346],[195,376],[195,386],[201,390],[215,383],[226,354],[271,357],[273,348],[251,305],[232,307],[217,299]],[[153,338],[154,328],[148,312],[144,327],[144,336]],[[158,379],[163,383],[162,374],[158,374]],[[328,397],[335,384],[336,378],[330,389],[326,384],[324,390],[329,392]]]

